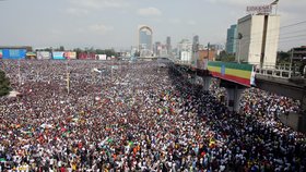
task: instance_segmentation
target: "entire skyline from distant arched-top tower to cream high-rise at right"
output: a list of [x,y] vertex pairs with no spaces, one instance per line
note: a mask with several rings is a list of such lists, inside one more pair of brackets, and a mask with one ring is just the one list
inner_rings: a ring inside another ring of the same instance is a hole
[[[280,37],[280,15],[273,13],[275,4],[276,2],[247,7],[248,14],[227,29],[226,54],[234,56],[237,63],[275,66]],[[138,40],[140,57],[173,57],[200,69],[205,61],[214,61],[224,50],[223,45],[201,45],[198,35],[193,36],[191,41],[181,39],[175,48],[170,37],[167,37],[165,42],[156,41],[153,45],[153,29],[145,25],[139,27]],[[305,51],[305,47],[295,49]],[[298,56],[297,52],[294,54],[297,59],[306,57],[302,51]]]

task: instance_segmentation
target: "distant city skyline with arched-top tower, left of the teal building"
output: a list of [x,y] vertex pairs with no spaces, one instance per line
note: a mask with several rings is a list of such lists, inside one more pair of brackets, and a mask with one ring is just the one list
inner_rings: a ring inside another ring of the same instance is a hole
[[222,45],[203,46],[196,35],[192,41],[181,39],[175,48],[172,46],[172,38],[166,37],[165,42],[153,44],[153,29],[150,26],[141,25],[138,28],[138,47],[132,47],[131,54],[139,52],[139,57],[163,57],[174,58],[181,63],[192,64],[195,67],[203,67],[207,60],[214,61],[216,54],[224,50]]

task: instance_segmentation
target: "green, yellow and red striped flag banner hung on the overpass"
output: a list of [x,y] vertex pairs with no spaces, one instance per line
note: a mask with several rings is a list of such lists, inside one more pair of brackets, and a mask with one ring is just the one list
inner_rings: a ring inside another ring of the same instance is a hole
[[214,77],[250,87],[255,85],[254,65],[209,61],[208,69]]

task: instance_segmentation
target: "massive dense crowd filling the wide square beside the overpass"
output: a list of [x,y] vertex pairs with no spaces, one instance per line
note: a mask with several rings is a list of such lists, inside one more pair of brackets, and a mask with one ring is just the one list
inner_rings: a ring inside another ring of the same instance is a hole
[[[181,79],[172,65],[2,67],[21,95],[0,98],[0,171],[306,171],[305,135],[257,115],[258,107],[228,111],[217,91]],[[251,91],[262,96],[249,90],[248,102],[258,98]],[[268,99],[261,108],[270,112]]]

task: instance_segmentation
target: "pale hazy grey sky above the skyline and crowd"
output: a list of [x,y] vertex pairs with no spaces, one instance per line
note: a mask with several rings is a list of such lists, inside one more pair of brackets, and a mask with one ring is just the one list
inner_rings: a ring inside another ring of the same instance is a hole
[[[273,0],[0,0],[0,46],[115,48],[137,45],[137,28],[153,28],[154,41],[199,35],[205,45],[225,44],[226,29],[247,5]],[[279,49],[306,45],[306,0],[280,0]],[[304,38],[304,39],[303,39]]]

